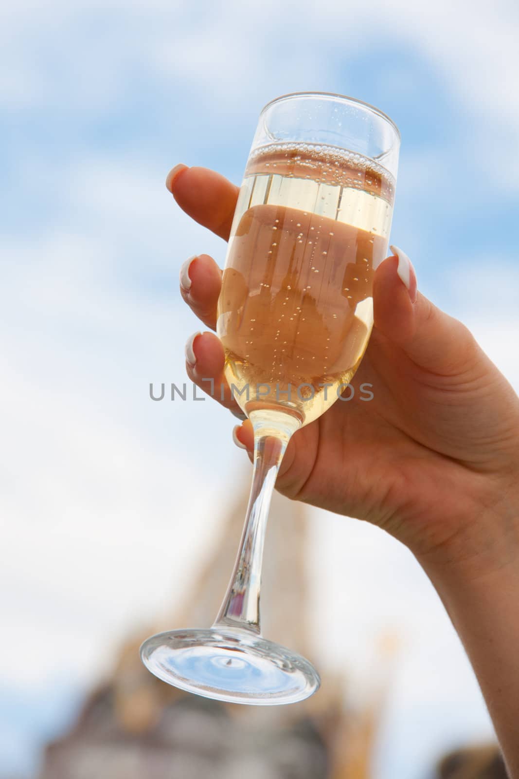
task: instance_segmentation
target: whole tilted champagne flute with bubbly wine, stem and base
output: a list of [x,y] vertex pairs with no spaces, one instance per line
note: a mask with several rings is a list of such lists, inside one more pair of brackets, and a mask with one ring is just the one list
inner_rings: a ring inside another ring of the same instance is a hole
[[288,94],[261,111],[217,320],[227,382],[254,428],[244,532],[212,628],[159,633],[141,647],[153,674],[191,693],[268,705],[318,689],[309,661],[261,636],[265,526],[291,435],[338,400],[366,350],[399,146],[390,118],[342,95]]

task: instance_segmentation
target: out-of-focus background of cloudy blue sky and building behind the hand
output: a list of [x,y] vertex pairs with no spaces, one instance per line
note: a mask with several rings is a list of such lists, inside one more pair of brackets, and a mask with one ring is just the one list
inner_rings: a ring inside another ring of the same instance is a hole
[[[128,745],[161,722],[165,741],[153,731],[153,743],[174,753],[182,707],[198,705],[208,722],[218,714],[202,699],[167,698],[135,661],[147,633],[195,624],[201,605],[209,620],[219,605],[237,543],[226,529],[239,527],[250,474],[228,412],[149,397],[150,382],[186,381],[184,342],[198,323],[178,292],[181,263],[225,256],[166,191],[170,167],[240,182],[258,113],[282,93],[377,105],[402,132],[392,241],[421,290],[472,328],[519,389],[518,35],[517,4],[505,0],[2,5],[2,779],[220,776],[188,763],[160,773],[140,758],[140,773],[117,760],[101,770],[88,750],[82,762],[72,750],[73,769],[52,763],[71,732],[82,743],[82,728],[106,749],[110,738],[126,745],[128,760]],[[292,587],[305,584],[292,605],[288,587],[278,612],[265,603],[265,633],[270,608],[273,631],[289,623],[324,683],[314,708],[271,711],[258,728],[293,735],[301,718],[313,723],[328,763],[304,776],[426,779],[449,750],[492,744],[458,638],[402,545],[279,501],[270,532],[292,550]],[[274,574],[283,544],[271,541]],[[92,701],[104,712],[93,705],[94,724]],[[241,733],[251,710],[235,708],[226,717]],[[177,712],[169,731],[164,710]],[[341,756],[348,743],[363,756]],[[233,770],[303,777],[289,760],[276,763],[285,773]],[[458,776],[460,760],[441,775]]]

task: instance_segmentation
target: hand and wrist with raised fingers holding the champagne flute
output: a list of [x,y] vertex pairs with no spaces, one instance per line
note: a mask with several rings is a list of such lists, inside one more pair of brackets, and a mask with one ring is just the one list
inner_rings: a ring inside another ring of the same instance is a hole
[[[235,185],[178,165],[167,188],[190,217],[229,237]],[[510,775],[519,777],[519,661],[489,648],[492,635],[514,642],[515,654],[519,643],[519,399],[468,329],[416,291],[410,264],[407,272],[406,286],[390,256],[374,276],[373,333],[353,382],[372,385],[373,399],[337,401],[297,431],[276,488],[377,524],[416,555],[465,643]],[[204,254],[181,270],[182,297],[209,330],[221,276]],[[205,391],[202,379],[226,385],[214,333],[191,337],[186,368]],[[223,404],[237,408],[228,387]],[[235,435],[251,456],[250,422]],[[505,669],[515,671],[514,704],[498,679]]]

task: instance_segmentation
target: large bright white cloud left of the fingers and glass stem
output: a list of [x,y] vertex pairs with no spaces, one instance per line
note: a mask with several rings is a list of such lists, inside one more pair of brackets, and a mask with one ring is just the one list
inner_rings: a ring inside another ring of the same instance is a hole
[[[68,171],[66,231],[2,241],[11,327],[0,610],[5,631],[20,637],[3,646],[4,682],[29,688],[62,668],[70,683],[92,683],[135,622],[153,623],[181,598],[222,519],[219,481],[238,459],[229,414],[148,394],[150,381],[187,379],[184,341],[196,326],[177,291],[196,231],[162,178],[156,186],[153,175],[102,160]],[[170,273],[171,299],[130,283],[124,225],[149,235],[147,272]],[[38,636],[38,664],[26,626]]]

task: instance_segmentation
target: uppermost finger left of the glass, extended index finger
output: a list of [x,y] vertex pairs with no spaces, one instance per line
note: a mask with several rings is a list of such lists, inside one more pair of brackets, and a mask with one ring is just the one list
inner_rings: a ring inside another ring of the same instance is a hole
[[208,167],[185,165],[170,171],[166,186],[191,219],[225,241],[229,238],[239,187]]

